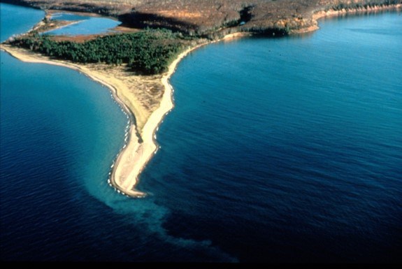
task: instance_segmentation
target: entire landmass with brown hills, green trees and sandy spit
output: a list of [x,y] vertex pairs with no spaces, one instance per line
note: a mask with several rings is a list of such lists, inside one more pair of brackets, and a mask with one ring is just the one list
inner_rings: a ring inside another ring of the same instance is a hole
[[[22,61],[73,68],[105,85],[129,117],[125,144],[110,167],[108,182],[130,197],[138,176],[159,145],[156,131],[173,109],[168,80],[183,57],[213,42],[240,36],[288,36],[318,29],[321,17],[401,8],[401,0],[6,0],[45,10],[27,34],[1,50]],[[66,24],[51,19],[63,10],[122,22],[115,34],[48,36]]]

